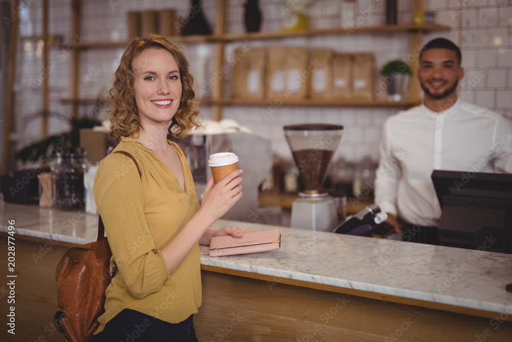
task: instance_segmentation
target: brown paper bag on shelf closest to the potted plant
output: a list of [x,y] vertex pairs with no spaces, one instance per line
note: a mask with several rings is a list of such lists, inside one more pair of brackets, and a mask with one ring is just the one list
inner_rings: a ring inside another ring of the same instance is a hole
[[375,84],[375,56],[373,53],[354,55],[354,98],[368,99]]

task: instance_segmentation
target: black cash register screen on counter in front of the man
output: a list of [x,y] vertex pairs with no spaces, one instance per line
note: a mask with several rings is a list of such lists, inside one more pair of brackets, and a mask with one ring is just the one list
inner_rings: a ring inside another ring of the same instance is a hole
[[432,172],[441,246],[512,254],[512,174]]

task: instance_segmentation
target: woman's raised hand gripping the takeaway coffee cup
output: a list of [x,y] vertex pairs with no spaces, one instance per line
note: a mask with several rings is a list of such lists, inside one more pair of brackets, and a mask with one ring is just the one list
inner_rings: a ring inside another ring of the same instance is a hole
[[210,176],[199,210],[212,222],[221,218],[242,197],[241,173],[242,170],[235,170],[215,185],[214,178]]

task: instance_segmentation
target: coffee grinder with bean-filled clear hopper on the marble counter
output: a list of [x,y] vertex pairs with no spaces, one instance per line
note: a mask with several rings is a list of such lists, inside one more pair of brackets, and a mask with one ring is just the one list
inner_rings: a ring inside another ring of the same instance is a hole
[[336,228],[334,198],[323,190],[331,159],[342,138],[343,126],[301,124],[284,127],[304,191],[291,210],[291,227],[332,232]]

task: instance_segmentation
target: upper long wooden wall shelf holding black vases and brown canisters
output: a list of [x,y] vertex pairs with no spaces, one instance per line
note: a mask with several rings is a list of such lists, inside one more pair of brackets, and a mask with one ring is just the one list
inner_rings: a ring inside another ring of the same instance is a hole
[[[176,43],[215,43],[215,42],[234,42],[243,41],[244,39],[279,39],[286,37],[308,37],[315,35],[333,35],[333,34],[356,34],[356,33],[385,33],[385,32],[417,32],[417,31],[447,31],[450,26],[438,24],[423,25],[382,25],[382,26],[365,26],[359,28],[333,28],[322,30],[308,30],[296,32],[254,32],[254,33],[228,33],[228,34],[208,34],[208,35],[190,35],[190,36],[168,36],[171,42]],[[113,49],[126,47],[129,42],[88,42],[75,46],[76,49]],[[70,44],[54,44],[50,48],[67,48]]]

